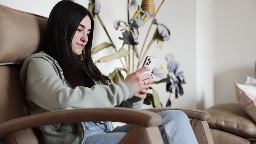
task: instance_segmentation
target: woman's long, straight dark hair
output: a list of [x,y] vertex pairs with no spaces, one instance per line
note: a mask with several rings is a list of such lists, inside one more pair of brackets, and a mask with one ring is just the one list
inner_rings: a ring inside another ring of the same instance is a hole
[[[87,15],[91,19],[91,32],[81,55],[76,56],[72,51],[71,41],[80,22]],[[70,0],[58,2],[48,18],[48,46],[44,47],[43,51],[57,60],[62,67],[64,77],[73,88],[76,86],[92,87],[95,85],[93,80],[100,81],[104,85],[110,82],[108,77],[101,74],[91,57],[93,29],[94,22],[91,13],[82,5]]]

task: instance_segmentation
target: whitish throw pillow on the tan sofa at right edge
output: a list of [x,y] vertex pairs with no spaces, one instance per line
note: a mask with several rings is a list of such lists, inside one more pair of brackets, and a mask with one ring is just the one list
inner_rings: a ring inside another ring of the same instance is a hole
[[247,76],[245,84],[236,83],[236,99],[256,122],[256,79]]

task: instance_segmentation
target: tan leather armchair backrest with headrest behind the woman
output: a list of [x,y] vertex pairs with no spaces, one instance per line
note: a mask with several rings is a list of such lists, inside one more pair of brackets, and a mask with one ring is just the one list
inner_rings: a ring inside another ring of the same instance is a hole
[[[28,115],[19,71],[25,58],[43,46],[46,24],[46,17],[0,5],[0,123]],[[0,141],[38,144],[32,129],[1,137]]]

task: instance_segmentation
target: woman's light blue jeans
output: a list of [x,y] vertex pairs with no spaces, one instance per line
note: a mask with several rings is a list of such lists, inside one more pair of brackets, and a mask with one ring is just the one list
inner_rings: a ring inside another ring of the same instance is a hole
[[[159,112],[162,122],[159,126],[165,144],[197,144],[195,134],[187,115],[179,110]],[[85,144],[117,144],[133,127],[131,124],[118,126],[110,131],[104,122],[85,122],[87,127]]]

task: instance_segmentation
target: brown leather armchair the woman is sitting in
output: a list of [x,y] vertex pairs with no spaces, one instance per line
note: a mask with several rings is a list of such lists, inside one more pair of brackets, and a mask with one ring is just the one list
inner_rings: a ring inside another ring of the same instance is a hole
[[[90,108],[29,116],[25,92],[19,85],[19,71],[24,59],[42,47],[47,18],[0,5],[0,19],[0,143],[38,144],[38,130],[34,127],[81,121],[133,124],[134,127],[120,143],[163,143],[158,129],[161,117],[155,112],[174,108]],[[191,118],[190,123],[199,144],[213,143],[207,124],[209,113],[192,109],[178,110],[184,111]]]

